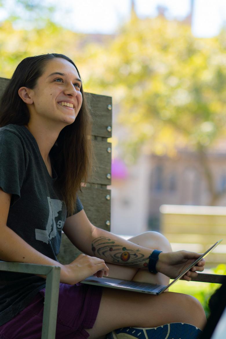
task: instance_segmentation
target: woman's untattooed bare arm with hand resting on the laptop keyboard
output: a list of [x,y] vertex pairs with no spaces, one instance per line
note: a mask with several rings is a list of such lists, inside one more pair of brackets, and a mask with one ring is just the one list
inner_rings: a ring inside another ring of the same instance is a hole
[[0,260],[60,266],[61,282],[67,284],[75,284],[102,270],[108,273],[104,260],[99,258],[82,254],[72,263],[62,265],[35,250],[7,226],[10,201],[11,195],[0,188]]

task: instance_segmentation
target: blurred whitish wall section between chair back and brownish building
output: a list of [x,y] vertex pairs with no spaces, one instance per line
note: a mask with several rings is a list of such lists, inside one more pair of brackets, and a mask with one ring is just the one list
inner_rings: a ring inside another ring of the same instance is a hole
[[[117,167],[126,168],[124,176]],[[149,218],[150,177],[148,158],[141,155],[139,161],[126,167],[122,160],[112,162],[111,181],[111,232],[137,235],[147,231]]]

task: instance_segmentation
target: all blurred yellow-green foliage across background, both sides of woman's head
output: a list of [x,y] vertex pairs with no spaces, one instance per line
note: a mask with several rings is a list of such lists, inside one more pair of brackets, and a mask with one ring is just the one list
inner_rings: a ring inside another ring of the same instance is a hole
[[192,148],[206,175],[210,204],[225,194],[216,191],[208,159],[208,150],[225,137],[225,31],[198,39],[185,23],[133,15],[115,36],[99,42],[53,23],[49,13],[54,9],[42,1],[17,3],[30,13],[25,17],[32,18],[33,26],[29,20],[26,29],[15,26],[21,20],[16,15],[0,23],[2,77],[11,77],[26,56],[68,55],[77,63],[86,91],[113,97],[125,126],[127,154],[136,158],[142,147],[173,156],[177,148]]

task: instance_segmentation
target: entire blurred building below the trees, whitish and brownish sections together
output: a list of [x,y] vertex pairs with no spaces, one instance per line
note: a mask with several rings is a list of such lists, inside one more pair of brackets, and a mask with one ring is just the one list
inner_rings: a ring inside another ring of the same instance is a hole
[[[223,193],[218,206],[226,206],[226,152],[221,149],[208,154],[215,189]],[[137,235],[160,230],[159,207],[173,205],[209,205],[203,166],[198,154],[188,149],[178,150],[173,158],[141,155],[137,163],[124,166],[124,176],[117,173],[122,160],[112,163],[111,231]]]

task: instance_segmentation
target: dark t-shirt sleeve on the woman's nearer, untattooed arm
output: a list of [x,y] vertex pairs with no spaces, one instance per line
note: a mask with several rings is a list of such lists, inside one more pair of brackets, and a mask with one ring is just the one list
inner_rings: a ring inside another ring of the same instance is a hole
[[20,198],[25,175],[24,149],[20,139],[12,132],[0,132],[0,187],[12,194],[11,206]]

